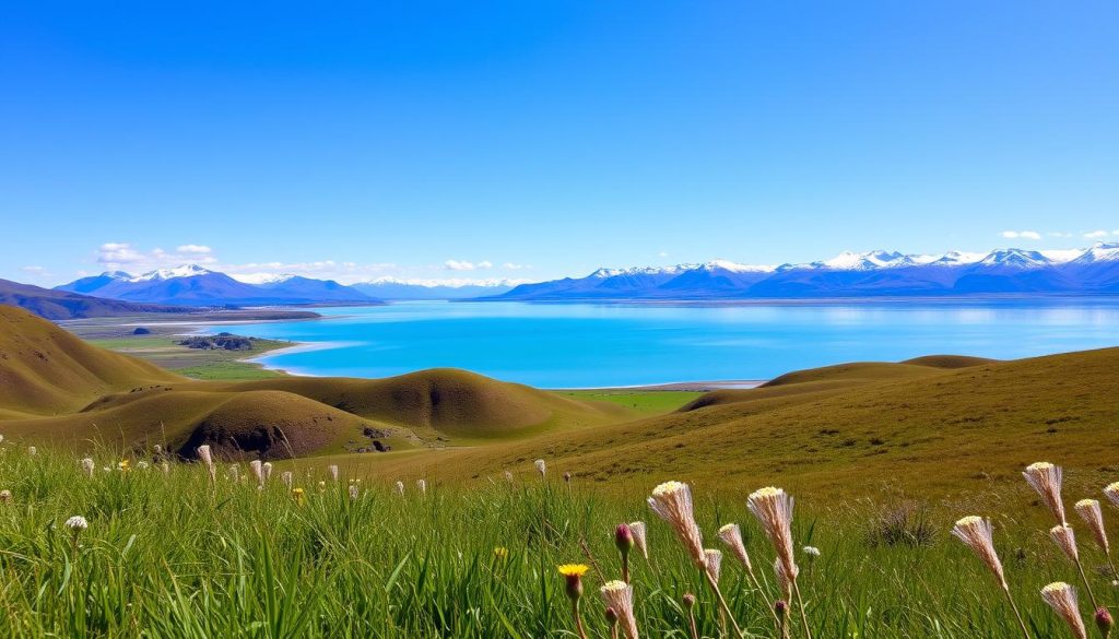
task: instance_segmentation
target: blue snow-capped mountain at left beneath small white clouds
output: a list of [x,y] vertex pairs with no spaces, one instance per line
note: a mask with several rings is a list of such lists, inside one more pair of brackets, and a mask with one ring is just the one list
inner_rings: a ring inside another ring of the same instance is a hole
[[196,307],[378,302],[332,280],[291,275],[238,281],[197,264],[159,269],[141,275],[102,273],[63,284],[57,290],[131,302]]

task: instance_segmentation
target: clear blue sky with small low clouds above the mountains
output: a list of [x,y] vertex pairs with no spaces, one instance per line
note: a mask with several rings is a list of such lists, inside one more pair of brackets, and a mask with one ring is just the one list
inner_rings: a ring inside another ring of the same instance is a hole
[[23,2],[0,278],[1119,241],[1119,3]]

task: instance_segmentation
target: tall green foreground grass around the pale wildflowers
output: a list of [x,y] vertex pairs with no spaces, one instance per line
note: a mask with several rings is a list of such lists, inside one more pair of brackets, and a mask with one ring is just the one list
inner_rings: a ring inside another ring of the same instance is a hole
[[[649,562],[633,561],[642,636],[685,638],[680,601],[689,592],[699,600],[700,633],[718,636],[698,571],[643,504],[648,483],[628,485],[633,497],[621,498],[580,480],[565,486],[558,474],[577,469],[555,463],[540,481],[528,462],[511,469],[511,483],[431,482],[421,496],[408,482],[402,498],[391,481],[367,480],[350,500],[347,480],[360,470],[354,466],[344,466],[342,481],[333,483],[322,466],[286,462],[258,491],[251,481],[229,480],[226,464],[213,487],[198,464],[173,463],[164,476],[149,454],[120,471],[120,454],[101,449],[87,479],[70,453],[31,457],[4,444],[0,489],[12,499],[0,505],[3,636],[571,637],[556,565],[586,563],[585,543],[593,568],[584,577],[584,619],[592,637],[605,637],[596,591],[619,575],[612,530],[637,519],[648,521],[650,546]],[[140,469],[141,460],[152,466]],[[279,481],[283,469],[305,489],[303,504]],[[1074,568],[1040,532],[1043,518],[1014,507],[1022,491],[932,505],[934,534],[921,545],[869,543],[867,521],[891,496],[844,502],[826,492],[797,495],[796,546],[822,553],[814,563],[798,554],[814,636],[1019,637],[994,580],[947,534],[956,517],[972,511],[996,518],[996,545],[1034,636],[1066,636],[1037,592],[1056,579],[1073,583]],[[1069,501],[1079,496],[1070,492]],[[697,492],[697,520],[714,547],[718,525],[742,525],[772,598],[773,553],[744,497]],[[63,526],[73,515],[90,525],[76,544]],[[1081,544],[1098,595],[1115,607],[1116,589],[1097,572],[1101,554],[1087,534]],[[721,583],[749,636],[772,637],[762,598],[730,555]]]

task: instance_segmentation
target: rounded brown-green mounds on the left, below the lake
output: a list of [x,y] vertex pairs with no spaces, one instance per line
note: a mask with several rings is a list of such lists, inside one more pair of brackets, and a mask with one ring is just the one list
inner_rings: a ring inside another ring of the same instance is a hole
[[194,382],[12,307],[0,307],[0,420],[9,436],[158,441],[184,455],[207,442],[226,457],[281,458],[382,440],[414,447],[518,439],[627,415],[453,369],[386,379]]

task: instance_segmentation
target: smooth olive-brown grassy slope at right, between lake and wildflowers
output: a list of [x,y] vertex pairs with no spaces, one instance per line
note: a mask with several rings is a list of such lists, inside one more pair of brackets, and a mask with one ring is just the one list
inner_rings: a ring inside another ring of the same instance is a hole
[[374,470],[407,476],[423,466],[459,481],[544,457],[606,485],[688,477],[713,490],[780,481],[837,496],[887,486],[960,495],[1015,481],[1035,458],[1089,474],[1116,472],[1117,396],[1119,349],[965,368],[829,367],[712,393],[678,413],[380,460]]

